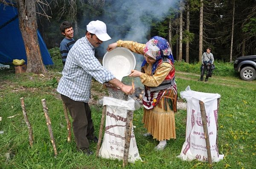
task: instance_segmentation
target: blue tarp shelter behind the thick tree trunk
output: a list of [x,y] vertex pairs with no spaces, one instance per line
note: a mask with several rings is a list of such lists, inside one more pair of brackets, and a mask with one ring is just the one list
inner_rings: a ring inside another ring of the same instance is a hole
[[[44,65],[53,65],[52,58],[39,31],[37,31],[37,34]],[[20,33],[17,8],[10,5],[4,5],[1,2],[0,35],[0,62],[9,63],[12,62],[13,59],[24,59],[26,64],[26,51]]]

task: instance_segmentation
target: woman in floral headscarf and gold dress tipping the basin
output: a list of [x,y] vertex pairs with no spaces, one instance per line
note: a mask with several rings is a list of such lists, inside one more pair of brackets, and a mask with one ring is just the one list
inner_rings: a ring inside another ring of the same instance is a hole
[[159,144],[156,150],[163,150],[166,140],[176,138],[175,116],[177,86],[172,51],[168,41],[162,37],[152,37],[146,44],[119,40],[108,45],[108,51],[116,47],[125,47],[144,55],[141,72],[131,70],[131,77],[140,77],[145,86],[143,93],[143,123],[148,133]]

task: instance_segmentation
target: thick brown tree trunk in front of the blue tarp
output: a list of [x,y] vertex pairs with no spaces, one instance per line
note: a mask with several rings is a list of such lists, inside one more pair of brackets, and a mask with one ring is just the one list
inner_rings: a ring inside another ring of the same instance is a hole
[[34,0],[17,0],[20,32],[27,57],[27,72],[45,73],[37,36],[37,22]]

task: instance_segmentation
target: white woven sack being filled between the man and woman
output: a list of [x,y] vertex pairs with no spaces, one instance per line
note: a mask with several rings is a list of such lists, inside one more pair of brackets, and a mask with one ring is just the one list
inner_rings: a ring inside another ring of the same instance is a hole
[[[111,97],[104,97],[103,105],[106,105],[106,123],[99,156],[102,158],[122,160],[125,149],[127,112],[128,110],[135,110],[134,100],[123,101]],[[128,162],[134,163],[137,160],[141,160],[141,158],[132,128]]]

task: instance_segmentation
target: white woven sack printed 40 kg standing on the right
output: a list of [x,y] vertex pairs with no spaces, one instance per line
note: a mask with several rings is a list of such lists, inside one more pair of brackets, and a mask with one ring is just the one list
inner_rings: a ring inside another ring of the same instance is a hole
[[218,162],[224,155],[218,153],[216,146],[217,138],[217,118],[218,108],[217,99],[221,96],[218,93],[202,93],[190,90],[180,92],[182,99],[187,101],[187,121],[186,121],[186,140],[182,146],[179,158],[191,161],[208,161],[206,142],[204,138],[204,128],[201,120],[201,110],[199,100],[204,102],[207,115],[207,128],[209,134],[210,150],[212,162]]

